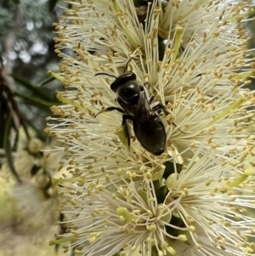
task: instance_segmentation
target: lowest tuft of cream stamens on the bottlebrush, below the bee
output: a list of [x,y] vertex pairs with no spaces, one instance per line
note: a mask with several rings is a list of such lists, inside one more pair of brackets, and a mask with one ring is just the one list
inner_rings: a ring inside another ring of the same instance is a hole
[[179,174],[168,162],[166,172],[173,173],[165,184],[148,171],[142,181],[127,172],[129,179],[121,183],[94,182],[86,191],[81,184],[69,185],[70,234],[51,244],[71,241],[78,255],[124,255],[137,248],[142,255],[249,255],[254,219],[246,208],[254,208],[255,180],[246,170],[236,186],[235,168],[218,168],[214,152],[199,161],[194,156]]

